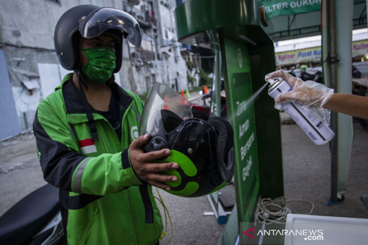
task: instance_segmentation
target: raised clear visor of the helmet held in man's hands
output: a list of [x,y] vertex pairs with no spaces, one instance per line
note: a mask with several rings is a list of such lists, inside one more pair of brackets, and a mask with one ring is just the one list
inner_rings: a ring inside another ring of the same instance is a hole
[[191,109],[192,103],[179,93],[162,83],[154,83],[144,104],[139,135],[159,132],[162,110],[173,112],[180,119],[186,120],[193,117]]

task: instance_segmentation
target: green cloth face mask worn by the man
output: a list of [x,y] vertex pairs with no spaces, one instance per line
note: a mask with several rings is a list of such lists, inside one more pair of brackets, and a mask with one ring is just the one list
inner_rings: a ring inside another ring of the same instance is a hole
[[82,67],[86,77],[95,83],[105,83],[111,78],[116,67],[115,51],[108,47],[81,48],[87,57]]

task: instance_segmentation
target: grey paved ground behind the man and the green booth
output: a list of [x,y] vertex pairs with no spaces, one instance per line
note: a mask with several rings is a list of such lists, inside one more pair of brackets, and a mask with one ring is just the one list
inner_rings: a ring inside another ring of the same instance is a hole
[[[297,125],[282,125],[286,198],[302,198],[314,202],[313,215],[368,218],[368,210],[360,201],[361,195],[368,194],[367,143],[368,132],[354,123],[353,152],[345,201],[327,206],[330,191],[328,145],[316,147]],[[0,215],[26,194],[45,184],[35,149],[32,133],[0,143]],[[205,197],[179,198],[164,191],[160,193],[173,222],[174,238],[170,244],[217,243],[224,226],[217,224],[212,216],[203,216],[203,212],[210,211]],[[309,208],[307,204],[294,207],[299,212],[306,212]]]

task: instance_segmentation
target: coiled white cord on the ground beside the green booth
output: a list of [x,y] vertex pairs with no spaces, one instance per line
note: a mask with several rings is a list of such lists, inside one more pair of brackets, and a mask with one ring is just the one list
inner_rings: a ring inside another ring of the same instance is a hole
[[[289,205],[287,205],[288,202],[307,202],[312,205],[311,211],[309,213],[298,213],[295,212]],[[269,207],[276,207],[278,211],[272,212],[268,208]],[[285,206],[282,207],[272,201],[270,198],[264,198],[259,202],[257,210],[255,212],[255,220],[257,222],[265,222],[265,224],[283,224],[286,222],[286,216],[289,213],[297,213],[297,214],[304,214],[304,215],[310,215],[313,212],[314,204],[311,201],[302,200],[302,199],[292,199],[288,200],[285,203]]]

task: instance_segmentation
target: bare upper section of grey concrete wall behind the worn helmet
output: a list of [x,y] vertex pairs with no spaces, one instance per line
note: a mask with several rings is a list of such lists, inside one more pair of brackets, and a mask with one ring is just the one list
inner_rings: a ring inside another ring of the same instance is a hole
[[116,0],[1,0],[0,43],[54,50],[56,22],[65,11],[80,4],[122,8],[122,1]]

